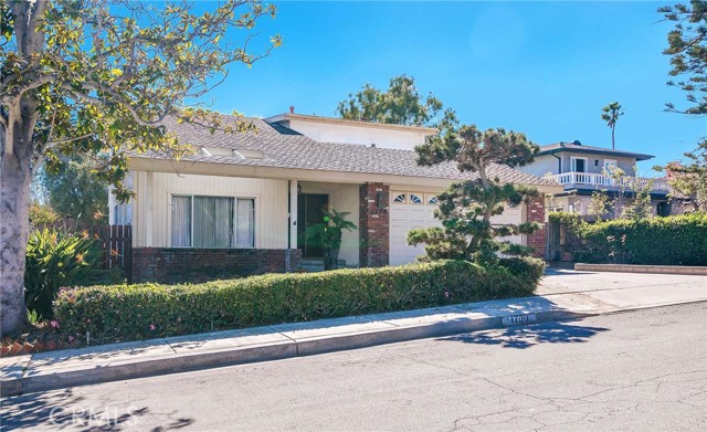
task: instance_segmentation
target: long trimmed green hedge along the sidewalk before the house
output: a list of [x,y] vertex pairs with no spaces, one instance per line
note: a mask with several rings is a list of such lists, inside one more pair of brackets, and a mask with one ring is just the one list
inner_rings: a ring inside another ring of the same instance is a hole
[[202,284],[80,287],[60,292],[54,314],[68,335],[141,339],[528,296],[544,268],[535,259],[493,267],[437,261]]

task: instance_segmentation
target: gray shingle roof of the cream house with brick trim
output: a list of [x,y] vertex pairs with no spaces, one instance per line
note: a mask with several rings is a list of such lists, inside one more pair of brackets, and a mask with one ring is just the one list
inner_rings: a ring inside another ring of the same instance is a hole
[[[226,118],[229,118],[226,116]],[[231,117],[232,118],[232,117]],[[258,118],[250,118],[256,131],[241,134],[211,134],[208,128],[191,124],[167,122],[168,130],[175,133],[181,144],[200,148],[222,148],[261,152],[258,158],[236,156],[209,156],[197,151],[180,160],[209,164],[225,164],[270,168],[292,168],[319,171],[357,172],[421,177],[451,180],[476,179],[473,172],[463,172],[454,162],[442,162],[423,167],[416,162],[413,150],[398,150],[355,144],[319,143],[278,124],[268,124]],[[170,159],[169,156],[147,151],[131,152],[133,158]],[[503,182],[557,186],[556,182],[539,178],[510,167],[494,164],[488,175]]]

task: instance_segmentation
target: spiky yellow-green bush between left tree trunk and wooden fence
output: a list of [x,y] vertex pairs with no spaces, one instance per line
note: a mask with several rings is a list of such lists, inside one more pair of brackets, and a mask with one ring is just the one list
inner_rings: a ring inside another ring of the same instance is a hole
[[52,318],[52,301],[62,286],[81,286],[105,281],[99,268],[101,241],[88,234],[56,230],[30,233],[24,271],[24,302],[29,310]]

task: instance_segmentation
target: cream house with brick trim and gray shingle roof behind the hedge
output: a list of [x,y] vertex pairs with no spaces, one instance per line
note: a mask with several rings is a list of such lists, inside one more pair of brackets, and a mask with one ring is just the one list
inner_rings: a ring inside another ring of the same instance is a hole
[[[414,146],[435,129],[293,113],[252,122],[256,131],[244,134],[168,124],[193,155],[131,156],[136,198],[112,201],[110,222],[133,225],[135,282],[294,271],[303,259],[321,256],[304,231],[327,209],[348,212],[358,225],[344,234],[339,257],[347,266],[414,262],[423,247],[407,244],[408,231],[436,225],[436,194],[475,178],[454,164],[416,164]],[[506,166],[494,166],[492,175],[544,192],[562,190]],[[525,220],[545,221],[542,199],[509,208],[494,222]],[[544,231],[514,241],[545,253]]]

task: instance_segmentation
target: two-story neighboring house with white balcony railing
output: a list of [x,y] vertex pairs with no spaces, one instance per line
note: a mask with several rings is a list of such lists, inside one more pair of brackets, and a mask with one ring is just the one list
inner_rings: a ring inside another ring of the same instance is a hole
[[[560,141],[541,146],[535,161],[519,169],[563,186],[561,193],[548,200],[549,211],[588,214],[594,191],[605,191],[610,196],[623,192],[630,203],[635,189],[650,187],[654,213],[667,215],[671,213],[667,179],[636,177],[636,162],[652,158],[651,155],[584,146],[577,140]],[[624,176],[612,176],[618,172],[614,168],[621,169]]]

